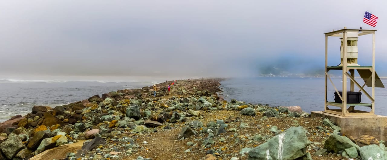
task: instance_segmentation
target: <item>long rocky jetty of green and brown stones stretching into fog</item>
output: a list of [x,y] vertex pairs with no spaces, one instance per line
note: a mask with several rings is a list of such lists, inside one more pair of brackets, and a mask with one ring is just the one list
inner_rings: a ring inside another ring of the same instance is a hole
[[[383,141],[340,134],[298,107],[218,95],[221,79],[179,80],[95,95],[0,124],[0,160],[358,160],[387,155]],[[50,153],[55,153],[52,155]],[[32,158],[33,157],[33,158]]]

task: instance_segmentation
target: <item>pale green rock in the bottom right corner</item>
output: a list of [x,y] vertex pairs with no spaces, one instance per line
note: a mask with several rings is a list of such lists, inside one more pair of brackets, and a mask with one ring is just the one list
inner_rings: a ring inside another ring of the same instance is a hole
[[360,157],[363,160],[387,160],[387,151],[378,145],[363,146],[360,148]]

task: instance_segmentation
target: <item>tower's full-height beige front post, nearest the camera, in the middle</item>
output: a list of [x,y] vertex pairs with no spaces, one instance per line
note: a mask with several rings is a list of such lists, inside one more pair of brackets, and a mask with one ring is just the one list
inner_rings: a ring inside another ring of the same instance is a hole
[[[344,27],[345,29],[345,27]],[[347,31],[342,33],[342,116],[347,115]]]

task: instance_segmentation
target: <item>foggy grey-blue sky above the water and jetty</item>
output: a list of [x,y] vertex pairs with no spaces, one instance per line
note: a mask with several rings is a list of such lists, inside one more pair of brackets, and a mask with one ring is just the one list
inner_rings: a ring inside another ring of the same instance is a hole
[[[12,76],[254,77],[264,67],[324,69],[324,33],[380,29],[376,71],[387,67],[384,0],[0,1],[0,74]],[[365,11],[379,17],[373,28]],[[372,64],[372,36],[358,42]],[[340,63],[329,38],[329,65]]]

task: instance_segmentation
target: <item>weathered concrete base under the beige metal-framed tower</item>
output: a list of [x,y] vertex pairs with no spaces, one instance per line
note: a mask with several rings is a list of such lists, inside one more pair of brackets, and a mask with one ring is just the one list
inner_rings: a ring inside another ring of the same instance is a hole
[[329,114],[325,112],[312,112],[312,118],[324,117],[341,127],[341,133],[346,136],[357,138],[361,135],[370,135],[379,141],[387,141],[387,117],[382,115],[375,116],[349,116]]

